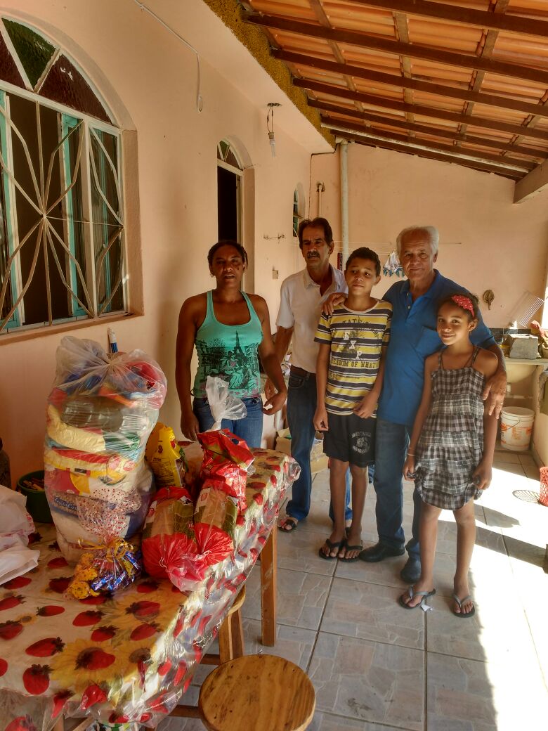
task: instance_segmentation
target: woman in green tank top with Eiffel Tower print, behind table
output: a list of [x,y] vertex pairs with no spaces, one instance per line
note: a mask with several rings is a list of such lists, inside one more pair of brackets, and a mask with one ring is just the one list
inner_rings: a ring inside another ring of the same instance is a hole
[[[208,376],[227,381],[229,390],[246,404],[248,415],[237,421],[223,420],[222,428],[237,434],[249,447],[259,447],[262,414],[274,414],[286,401],[280,363],[270,334],[267,303],[259,295],[246,295],[240,287],[248,258],[239,243],[219,241],[208,253],[216,288],[194,295],[179,314],[175,379],[180,401],[180,428],[188,439],[213,425],[205,395]],[[191,403],[191,358],[196,346],[198,368]],[[277,393],[262,406],[259,357]]]

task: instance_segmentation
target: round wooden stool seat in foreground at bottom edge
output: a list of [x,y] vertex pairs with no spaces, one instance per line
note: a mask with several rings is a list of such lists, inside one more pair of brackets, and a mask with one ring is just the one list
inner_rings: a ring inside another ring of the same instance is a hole
[[308,675],[275,655],[246,655],[220,665],[205,678],[198,701],[208,731],[302,731],[315,707]]

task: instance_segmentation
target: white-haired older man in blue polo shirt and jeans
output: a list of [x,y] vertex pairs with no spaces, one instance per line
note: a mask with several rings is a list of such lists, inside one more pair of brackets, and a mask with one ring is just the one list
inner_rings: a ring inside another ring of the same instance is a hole
[[[392,332],[377,410],[374,485],[378,543],[360,553],[363,561],[382,561],[389,556],[403,556],[405,552],[403,463],[421,400],[425,359],[441,346],[436,330],[437,306],[447,295],[465,291],[434,269],[438,239],[438,231],[433,226],[412,226],[397,237],[397,253],[407,281],[397,281],[383,298],[392,303]],[[470,338],[473,344],[492,350],[498,357],[498,371],[484,391],[484,399],[491,399],[490,413],[494,410],[498,417],[506,393],[503,354],[481,315]],[[407,583],[414,583],[420,576],[421,499],[416,490],[413,501],[413,537],[406,545],[409,557],[401,571]]]

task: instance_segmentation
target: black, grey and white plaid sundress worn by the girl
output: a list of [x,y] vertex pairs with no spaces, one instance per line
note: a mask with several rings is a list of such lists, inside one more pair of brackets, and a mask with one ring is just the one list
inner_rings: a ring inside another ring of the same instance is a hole
[[416,450],[415,485],[429,505],[458,510],[482,491],[472,482],[483,457],[485,376],[473,368],[447,370],[441,352],[432,374],[432,404]]

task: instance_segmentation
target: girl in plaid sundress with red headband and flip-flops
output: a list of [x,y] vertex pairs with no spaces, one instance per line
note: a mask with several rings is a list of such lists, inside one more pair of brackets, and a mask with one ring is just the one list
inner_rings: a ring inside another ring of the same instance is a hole
[[498,367],[494,353],[473,346],[469,333],[478,323],[478,300],[458,293],[438,308],[438,335],[445,348],[425,360],[425,386],[409,442],[403,477],[414,479],[422,498],[421,577],[400,596],[406,609],[435,594],[433,567],[438,518],[452,510],[457,521],[457,571],[453,613],[475,613],[468,569],[476,540],[474,499],[491,482],[497,422],[484,409],[485,382]]

